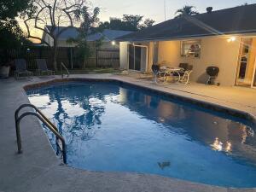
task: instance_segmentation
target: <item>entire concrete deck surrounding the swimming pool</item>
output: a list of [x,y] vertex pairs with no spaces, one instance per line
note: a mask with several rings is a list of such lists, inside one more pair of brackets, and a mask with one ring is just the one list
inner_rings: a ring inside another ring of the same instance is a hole
[[[233,108],[256,117],[256,102],[253,101],[256,90],[203,84],[157,85],[148,80],[112,74],[72,75],[71,78],[117,79],[177,96],[187,96],[225,108]],[[0,191],[256,191],[256,189],[225,189],[147,174],[88,172],[63,166],[61,160],[55,156],[38,119],[33,117],[21,121],[23,154],[16,154],[14,113],[20,104],[29,102],[23,86],[53,79],[60,77],[0,80]]]

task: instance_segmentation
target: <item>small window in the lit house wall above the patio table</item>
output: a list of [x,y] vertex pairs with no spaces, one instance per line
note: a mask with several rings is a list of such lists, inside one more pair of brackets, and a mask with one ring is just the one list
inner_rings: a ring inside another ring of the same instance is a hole
[[199,58],[201,56],[201,40],[183,41],[181,44],[181,55]]

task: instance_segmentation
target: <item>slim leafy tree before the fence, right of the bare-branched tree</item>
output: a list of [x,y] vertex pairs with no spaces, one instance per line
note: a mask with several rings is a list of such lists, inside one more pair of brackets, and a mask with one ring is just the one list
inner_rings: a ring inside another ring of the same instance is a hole
[[[99,22],[98,15],[100,13],[99,8],[93,9],[92,12],[90,12],[89,7],[84,6],[83,9],[81,9],[81,19],[82,23],[78,29],[79,35],[76,38],[69,38],[67,42],[75,43],[77,44],[76,47],[78,48],[77,56],[83,61],[83,64],[85,67],[85,61],[88,59],[91,55],[90,51],[90,45],[87,42],[87,37],[90,33],[92,33],[93,26]],[[100,42],[96,42],[97,45],[100,45]]]

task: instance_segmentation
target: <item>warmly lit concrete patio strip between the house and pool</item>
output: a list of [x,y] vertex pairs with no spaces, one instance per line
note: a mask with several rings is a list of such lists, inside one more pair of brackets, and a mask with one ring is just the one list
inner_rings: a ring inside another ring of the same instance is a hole
[[[120,78],[118,78],[120,79]],[[216,86],[191,82],[190,84],[155,84],[152,79],[143,79],[137,73],[123,76],[122,80],[141,84],[148,88],[157,89],[172,93],[177,96],[186,96],[201,102],[209,102],[250,113],[256,117],[256,103],[254,98],[256,90],[239,86]]]

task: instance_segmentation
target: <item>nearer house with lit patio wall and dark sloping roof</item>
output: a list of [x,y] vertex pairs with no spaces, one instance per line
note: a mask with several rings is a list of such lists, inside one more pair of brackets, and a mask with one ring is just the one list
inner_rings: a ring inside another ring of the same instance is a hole
[[206,83],[219,67],[221,85],[256,86],[256,4],[166,20],[117,38],[120,67],[151,72],[152,64],[193,65],[191,81]]

